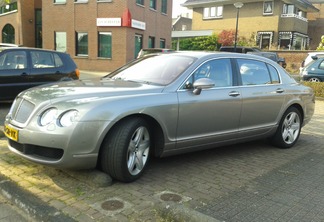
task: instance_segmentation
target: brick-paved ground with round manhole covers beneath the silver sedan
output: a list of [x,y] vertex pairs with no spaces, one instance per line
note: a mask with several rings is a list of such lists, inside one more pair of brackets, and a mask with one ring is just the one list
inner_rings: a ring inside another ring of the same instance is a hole
[[323,117],[317,100],[292,149],[259,141],[153,159],[128,184],[33,164],[2,138],[0,191],[36,221],[324,221]]

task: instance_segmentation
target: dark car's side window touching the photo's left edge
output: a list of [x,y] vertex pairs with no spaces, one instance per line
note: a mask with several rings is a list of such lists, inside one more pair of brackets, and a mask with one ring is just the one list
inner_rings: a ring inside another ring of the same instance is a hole
[[26,69],[27,55],[24,51],[6,52],[0,57],[0,69]]

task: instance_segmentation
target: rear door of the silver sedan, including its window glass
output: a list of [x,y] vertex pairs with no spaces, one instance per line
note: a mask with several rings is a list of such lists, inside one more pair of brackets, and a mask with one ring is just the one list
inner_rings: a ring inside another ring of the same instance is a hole
[[239,136],[255,137],[277,124],[285,91],[272,65],[252,59],[237,59],[237,64],[243,98]]

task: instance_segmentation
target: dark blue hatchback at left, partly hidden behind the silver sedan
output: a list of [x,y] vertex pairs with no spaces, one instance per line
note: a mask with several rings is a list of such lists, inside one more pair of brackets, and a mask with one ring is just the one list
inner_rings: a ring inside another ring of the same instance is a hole
[[62,52],[12,47],[0,52],[0,101],[13,100],[33,86],[80,75],[72,58]]

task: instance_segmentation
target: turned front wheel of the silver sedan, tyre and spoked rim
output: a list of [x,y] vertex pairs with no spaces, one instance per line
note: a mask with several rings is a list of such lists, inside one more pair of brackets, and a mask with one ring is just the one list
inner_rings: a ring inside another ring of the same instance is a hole
[[106,137],[100,152],[101,169],[112,178],[132,182],[144,172],[151,147],[149,125],[142,118],[118,123]]

